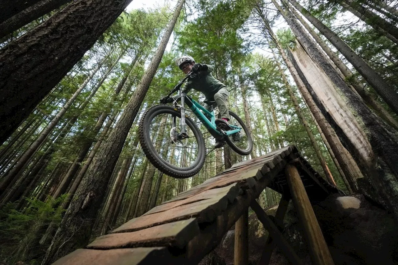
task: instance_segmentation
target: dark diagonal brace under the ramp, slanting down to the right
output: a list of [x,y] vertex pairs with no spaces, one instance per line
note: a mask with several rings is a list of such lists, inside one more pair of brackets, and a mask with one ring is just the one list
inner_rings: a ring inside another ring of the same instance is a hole
[[283,237],[277,226],[272,222],[271,218],[265,214],[264,210],[258,204],[256,200],[253,200],[250,207],[256,212],[258,220],[263,224],[264,228],[269,232],[272,239],[278,245],[278,247],[285,253],[286,257],[292,264],[302,265],[302,261],[297,256],[293,248],[289,245],[287,240]]

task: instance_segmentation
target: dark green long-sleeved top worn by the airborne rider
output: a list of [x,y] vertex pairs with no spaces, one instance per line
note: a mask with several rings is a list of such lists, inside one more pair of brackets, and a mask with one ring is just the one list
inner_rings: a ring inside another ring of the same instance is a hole
[[199,92],[205,94],[207,100],[214,101],[214,94],[216,94],[220,88],[226,87],[226,85],[222,84],[219,80],[217,80],[211,72],[213,71],[213,66],[207,65],[207,71],[201,71],[201,78],[195,77],[190,79],[182,91],[187,93],[192,88]]

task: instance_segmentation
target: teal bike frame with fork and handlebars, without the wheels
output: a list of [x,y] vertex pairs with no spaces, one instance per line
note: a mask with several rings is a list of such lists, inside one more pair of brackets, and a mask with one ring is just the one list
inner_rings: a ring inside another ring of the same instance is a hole
[[[217,129],[216,126],[216,117],[214,115],[214,110],[213,110],[213,106],[211,105],[211,111],[208,111],[207,109],[205,109],[202,105],[200,105],[197,101],[193,100],[191,97],[189,97],[187,94],[182,92],[182,84],[188,79],[191,78],[193,76],[193,73],[189,73],[185,76],[185,78],[183,80],[181,80],[175,87],[174,89],[165,97],[170,97],[171,94],[173,94],[174,92],[179,92],[178,96],[176,98],[174,98],[174,102],[173,102],[173,106],[174,108],[177,109],[177,107],[179,107],[181,109],[181,133],[179,133],[179,135],[177,136],[177,138],[181,139],[187,136],[186,134],[186,130],[185,130],[185,104],[187,104],[187,106],[191,109],[191,111],[193,112],[193,114],[195,114],[196,117],[198,117],[198,119],[203,123],[203,125],[205,125],[205,127],[207,128],[207,130],[209,131],[209,133],[216,139],[222,139],[228,135],[234,134],[234,133],[238,133],[240,131],[242,131],[241,127],[235,126],[230,124],[230,127],[232,128],[229,131],[224,131],[221,129]],[[177,101],[181,99],[181,105],[178,105]],[[186,99],[186,101],[185,101]],[[210,117],[210,119],[208,119],[205,115],[207,115],[208,117]],[[176,128],[176,117],[174,117],[173,119],[173,125],[174,128]]]

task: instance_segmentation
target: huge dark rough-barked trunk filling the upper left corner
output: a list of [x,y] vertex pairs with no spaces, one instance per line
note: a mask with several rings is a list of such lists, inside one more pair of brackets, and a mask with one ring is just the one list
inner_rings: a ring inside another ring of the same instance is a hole
[[130,2],[76,0],[0,50],[0,144],[94,45]]

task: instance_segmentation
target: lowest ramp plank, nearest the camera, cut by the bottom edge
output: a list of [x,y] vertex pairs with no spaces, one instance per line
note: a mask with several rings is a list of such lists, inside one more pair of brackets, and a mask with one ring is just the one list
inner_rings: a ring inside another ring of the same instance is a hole
[[127,249],[77,249],[58,259],[52,265],[143,265],[174,264],[177,259],[170,255],[166,247],[138,247]]

